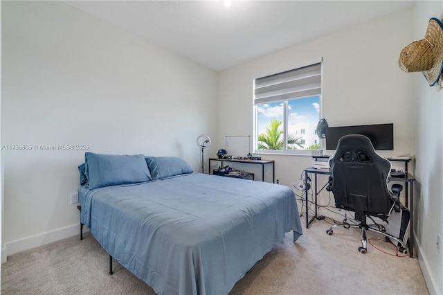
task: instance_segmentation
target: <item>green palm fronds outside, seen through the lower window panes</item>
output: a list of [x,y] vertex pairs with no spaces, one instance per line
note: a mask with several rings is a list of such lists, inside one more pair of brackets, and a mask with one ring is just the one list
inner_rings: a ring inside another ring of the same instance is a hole
[[[258,135],[258,148],[259,150],[283,150],[284,141],[281,138],[283,130],[280,127],[282,125],[281,120],[273,119],[266,127],[266,133]],[[296,136],[295,134],[288,135],[288,147],[296,149],[295,145],[303,147],[300,143],[302,136]]]

